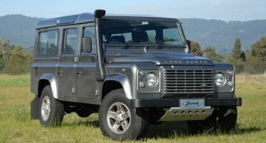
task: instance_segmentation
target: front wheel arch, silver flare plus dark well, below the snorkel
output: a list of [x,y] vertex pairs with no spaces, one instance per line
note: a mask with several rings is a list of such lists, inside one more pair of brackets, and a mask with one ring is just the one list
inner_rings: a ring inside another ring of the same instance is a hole
[[123,88],[126,98],[132,99],[132,92],[129,79],[121,73],[113,73],[106,77],[102,88],[102,100],[112,90]]

